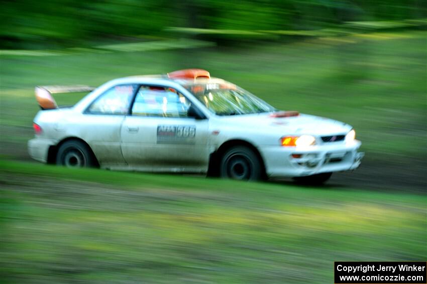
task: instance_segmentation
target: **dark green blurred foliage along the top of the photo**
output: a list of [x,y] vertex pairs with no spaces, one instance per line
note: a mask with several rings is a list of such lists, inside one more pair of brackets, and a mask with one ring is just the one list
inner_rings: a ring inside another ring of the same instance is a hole
[[224,30],[245,35],[334,28],[354,21],[406,21],[425,18],[427,9],[422,0],[3,0],[1,5],[0,48],[14,49],[161,37],[170,35],[167,27],[222,30],[210,38],[224,42]]

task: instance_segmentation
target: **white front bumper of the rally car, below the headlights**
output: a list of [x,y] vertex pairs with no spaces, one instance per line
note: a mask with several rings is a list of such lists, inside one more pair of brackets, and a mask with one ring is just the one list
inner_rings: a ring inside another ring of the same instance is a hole
[[[364,156],[361,143],[332,142],[303,149],[270,146],[260,149],[269,177],[296,177],[323,172],[353,170]],[[293,157],[292,155],[296,155]]]

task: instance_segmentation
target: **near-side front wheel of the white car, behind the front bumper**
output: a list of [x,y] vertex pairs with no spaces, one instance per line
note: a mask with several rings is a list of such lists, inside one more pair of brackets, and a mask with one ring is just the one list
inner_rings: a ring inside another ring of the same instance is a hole
[[237,180],[259,180],[262,177],[260,159],[248,147],[232,147],[221,159],[220,175]]

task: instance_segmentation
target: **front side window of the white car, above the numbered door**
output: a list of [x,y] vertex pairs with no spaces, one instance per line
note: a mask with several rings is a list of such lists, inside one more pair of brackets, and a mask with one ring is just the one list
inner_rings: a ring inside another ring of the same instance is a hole
[[172,88],[141,86],[135,97],[132,115],[147,117],[187,117],[190,103]]

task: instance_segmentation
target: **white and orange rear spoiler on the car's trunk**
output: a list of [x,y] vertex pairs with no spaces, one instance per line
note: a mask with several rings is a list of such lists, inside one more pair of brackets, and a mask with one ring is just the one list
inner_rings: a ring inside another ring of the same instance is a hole
[[42,110],[57,109],[58,105],[52,97],[53,93],[67,93],[67,92],[85,92],[92,91],[94,87],[86,85],[71,85],[71,86],[36,86],[35,94],[37,103]]

